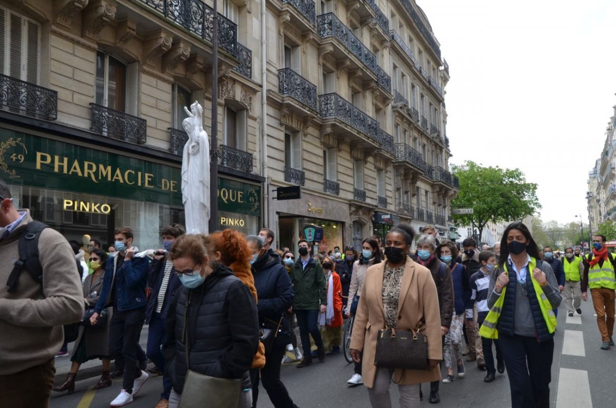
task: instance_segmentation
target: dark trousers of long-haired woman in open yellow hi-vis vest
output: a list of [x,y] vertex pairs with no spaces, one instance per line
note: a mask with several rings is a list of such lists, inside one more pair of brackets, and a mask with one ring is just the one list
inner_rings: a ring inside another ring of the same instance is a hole
[[[498,334],[505,360],[512,408],[549,408],[554,339]],[[485,351],[484,351],[485,353]]]

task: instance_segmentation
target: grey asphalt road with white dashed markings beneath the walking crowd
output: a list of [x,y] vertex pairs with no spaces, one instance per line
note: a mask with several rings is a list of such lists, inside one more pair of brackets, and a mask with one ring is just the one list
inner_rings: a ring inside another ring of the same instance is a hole
[[[616,407],[616,383],[614,362],[616,348],[599,349],[601,337],[596,325],[592,303],[582,302],[581,318],[569,318],[567,322],[564,305],[558,316],[558,330],[554,337],[554,361],[552,365],[551,406],[558,408],[613,408]],[[575,322],[573,322],[575,321]],[[578,324],[581,323],[581,324]],[[566,337],[566,340],[565,340]],[[142,343],[144,338],[142,337]],[[582,341],[583,343],[580,343]],[[576,355],[577,354],[577,355]],[[579,355],[582,354],[582,355]],[[507,373],[496,374],[493,383],[485,383],[485,372],[477,369],[475,362],[466,363],[466,377],[450,384],[440,384],[442,407],[506,407],[511,406]],[[282,380],[294,402],[302,408],[326,407],[369,408],[368,393],[363,386],[349,387],[346,381],[353,373],[353,366],[346,364],[339,354],[328,356],[323,363],[297,369],[295,365],[282,367]],[[562,383],[561,383],[562,376]],[[64,377],[64,375],[62,376]],[[78,377],[79,378],[79,377]],[[62,378],[63,379],[63,378]],[[121,379],[113,386],[92,391],[98,377],[77,381],[75,394],[54,393],[52,408],[102,408],[108,407],[120,392]],[[428,403],[429,384],[422,386],[424,401]],[[136,396],[131,407],[155,407],[162,390],[162,378],[151,376]],[[398,406],[397,387],[391,386],[392,406]],[[273,407],[267,393],[261,388],[258,407]]]

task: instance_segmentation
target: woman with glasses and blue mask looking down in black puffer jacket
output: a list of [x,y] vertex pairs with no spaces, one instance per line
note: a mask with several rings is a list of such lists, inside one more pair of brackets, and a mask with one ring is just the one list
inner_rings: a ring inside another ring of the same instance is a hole
[[[247,247],[239,252],[246,258],[249,254]],[[169,308],[164,345],[165,367],[173,386],[171,408],[179,404],[188,369],[209,377],[243,380],[253,364],[259,346],[256,303],[221,258],[213,240],[205,235],[182,235],[169,252],[174,273],[182,282]],[[249,391],[244,383],[237,390],[244,397],[240,398],[242,407],[252,400],[245,398],[252,396]],[[200,405],[211,406],[209,398],[203,394]]]

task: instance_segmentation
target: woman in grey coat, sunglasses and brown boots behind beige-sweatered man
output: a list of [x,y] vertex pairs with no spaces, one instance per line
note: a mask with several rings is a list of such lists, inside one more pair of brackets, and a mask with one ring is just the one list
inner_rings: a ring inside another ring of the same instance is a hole
[[[108,255],[103,250],[92,250],[90,255],[90,267],[94,272],[86,276],[83,283],[83,296],[86,310],[94,308],[99,301],[100,291],[103,287],[105,278],[105,264]],[[75,380],[79,367],[86,361],[101,359],[103,362],[103,374],[99,383],[94,386],[94,390],[105,388],[111,385],[111,375],[109,373],[109,326],[111,324],[111,307],[105,309],[108,313],[107,322],[103,327],[90,327],[82,325],[79,327],[79,335],[75,340],[73,354],[71,355],[71,369],[68,372],[67,380],[59,386],[52,388],[54,391],[68,391],[72,394],[75,391]]]

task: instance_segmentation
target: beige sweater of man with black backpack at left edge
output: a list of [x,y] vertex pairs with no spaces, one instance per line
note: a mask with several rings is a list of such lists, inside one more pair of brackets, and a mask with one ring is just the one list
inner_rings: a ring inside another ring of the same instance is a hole
[[54,358],[62,347],[62,325],[78,322],[84,313],[83,289],[75,255],[67,240],[51,228],[39,237],[43,288],[22,270],[17,293],[7,292],[18,256],[20,232],[32,221],[30,212],[15,231],[0,240],[0,375],[23,371]]

